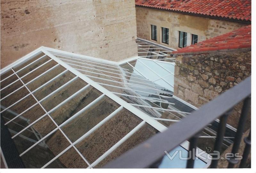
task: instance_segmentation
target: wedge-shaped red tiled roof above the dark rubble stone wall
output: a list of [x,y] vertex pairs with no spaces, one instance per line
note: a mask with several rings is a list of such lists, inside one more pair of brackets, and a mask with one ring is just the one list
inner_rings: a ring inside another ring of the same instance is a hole
[[172,53],[192,53],[204,51],[216,51],[224,49],[239,49],[251,47],[251,25],[237,29],[194,45],[184,47]]

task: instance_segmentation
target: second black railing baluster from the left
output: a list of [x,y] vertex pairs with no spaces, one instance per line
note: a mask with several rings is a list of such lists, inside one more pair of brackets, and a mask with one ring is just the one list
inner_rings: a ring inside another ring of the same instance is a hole
[[[216,138],[216,141],[214,144],[214,151],[220,152],[221,144],[222,144],[223,137],[224,137],[225,130],[226,130],[226,123],[227,123],[228,115],[232,112],[232,110],[233,109],[230,109],[228,112],[226,112],[225,114],[223,114],[220,117],[220,123],[219,123],[218,131],[217,131],[217,138]],[[218,156],[214,154],[213,157],[216,158]],[[217,160],[217,159],[212,160],[211,168],[216,168],[218,165],[218,161],[219,160]]]

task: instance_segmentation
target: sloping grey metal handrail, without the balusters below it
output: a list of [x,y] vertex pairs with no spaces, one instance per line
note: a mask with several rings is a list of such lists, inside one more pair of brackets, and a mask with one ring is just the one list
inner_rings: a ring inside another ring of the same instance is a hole
[[148,168],[164,156],[164,150],[171,151],[193,137],[205,126],[250,95],[251,76],[206,103],[199,110],[193,111],[166,131],[156,134],[116,160],[109,162],[103,168]]

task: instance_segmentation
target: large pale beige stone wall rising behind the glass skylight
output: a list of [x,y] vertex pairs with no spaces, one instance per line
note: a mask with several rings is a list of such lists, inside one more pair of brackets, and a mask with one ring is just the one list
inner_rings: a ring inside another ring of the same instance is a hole
[[40,46],[119,61],[136,35],[134,0],[1,1],[1,68]]

